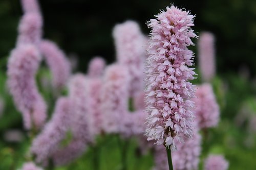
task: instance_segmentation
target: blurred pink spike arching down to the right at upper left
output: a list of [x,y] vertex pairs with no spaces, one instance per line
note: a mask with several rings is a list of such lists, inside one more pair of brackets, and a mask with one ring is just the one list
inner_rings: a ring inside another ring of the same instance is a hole
[[50,40],[42,40],[40,50],[52,72],[52,85],[62,88],[71,74],[71,65],[65,54]]

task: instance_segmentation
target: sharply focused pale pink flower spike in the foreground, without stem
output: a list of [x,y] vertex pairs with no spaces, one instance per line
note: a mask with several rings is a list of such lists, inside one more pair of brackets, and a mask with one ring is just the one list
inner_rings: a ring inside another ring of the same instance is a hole
[[146,60],[146,111],[148,140],[175,149],[174,139],[191,136],[194,118],[194,54],[187,46],[197,35],[190,29],[194,17],[174,6],[158,14],[147,25],[152,29]]

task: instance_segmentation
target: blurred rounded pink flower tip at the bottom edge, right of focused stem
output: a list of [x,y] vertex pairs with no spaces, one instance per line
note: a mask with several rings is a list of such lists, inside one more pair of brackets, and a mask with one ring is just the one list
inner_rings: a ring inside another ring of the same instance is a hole
[[227,170],[228,161],[222,155],[209,155],[204,162],[204,170]]

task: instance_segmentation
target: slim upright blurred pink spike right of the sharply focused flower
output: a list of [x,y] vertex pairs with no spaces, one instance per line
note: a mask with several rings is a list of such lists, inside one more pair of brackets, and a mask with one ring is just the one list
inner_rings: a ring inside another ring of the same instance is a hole
[[203,32],[198,40],[198,59],[200,75],[204,81],[210,81],[215,76],[215,37],[214,34]]

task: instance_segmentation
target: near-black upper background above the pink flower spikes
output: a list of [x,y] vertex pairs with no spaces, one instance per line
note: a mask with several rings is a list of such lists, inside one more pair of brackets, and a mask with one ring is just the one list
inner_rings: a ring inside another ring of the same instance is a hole
[[[39,1],[44,14],[44,37],[57,42],[67,54],[79,56],[79,70],[86,71],[96,55],[109,63],[115,59],[112,29],[116,23],[133,19],[148,34],[145,22],[160,9],[174,3],[196,14],[195,31],[216,35],[218,73],[238,71],[248,66],[256,74],[256,1]],[[17,24],[22,16],[18,0],[0,1],[0,57],[9,55],[15,45]]]

